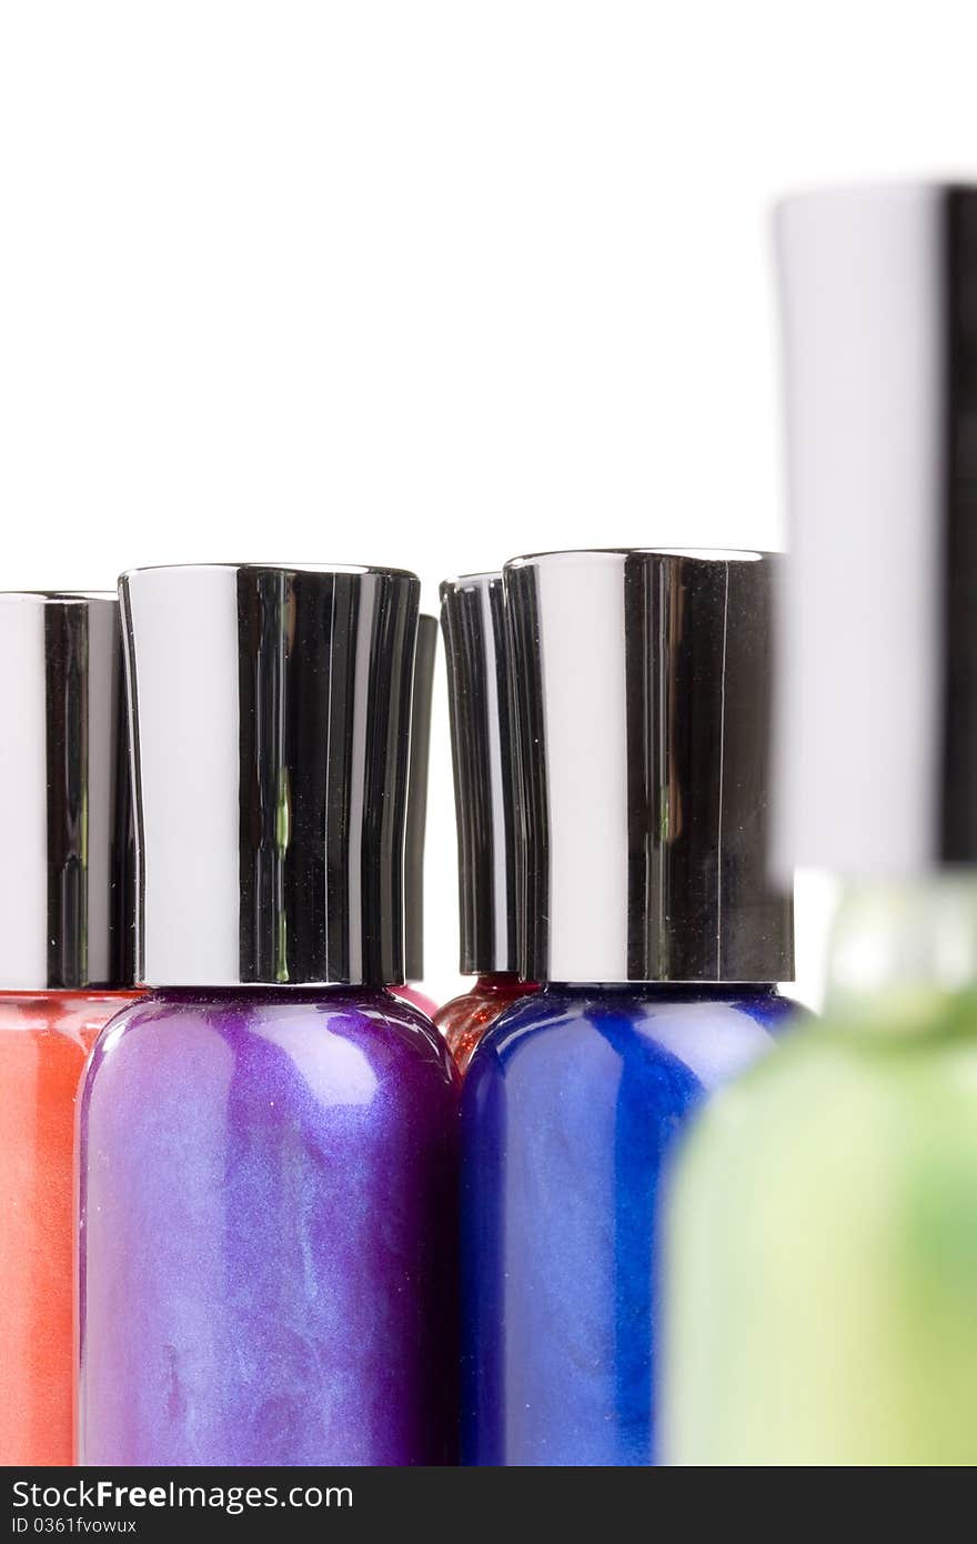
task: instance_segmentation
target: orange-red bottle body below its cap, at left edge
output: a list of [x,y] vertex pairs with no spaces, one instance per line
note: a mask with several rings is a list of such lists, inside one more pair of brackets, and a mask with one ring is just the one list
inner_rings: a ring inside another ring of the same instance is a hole
[[62,1465],[74,1427],[74,1121],[122,991],[0,993],[0,1464]]

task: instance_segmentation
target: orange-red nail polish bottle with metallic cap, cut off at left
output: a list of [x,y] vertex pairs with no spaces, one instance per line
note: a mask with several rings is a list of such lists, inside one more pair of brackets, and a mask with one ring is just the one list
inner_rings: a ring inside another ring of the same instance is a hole
[[76,1095],[133,1001],[123,724],[114,596],[0,594],[3,1465],[73,1459]]

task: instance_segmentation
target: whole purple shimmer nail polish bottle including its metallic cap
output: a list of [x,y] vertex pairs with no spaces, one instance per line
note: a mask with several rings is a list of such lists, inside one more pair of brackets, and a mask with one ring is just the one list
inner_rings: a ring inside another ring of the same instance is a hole
[[80,1459],[454,1453],[457,1073],[403,980],[418,581],[122,577],[151,994],[80,1113]]

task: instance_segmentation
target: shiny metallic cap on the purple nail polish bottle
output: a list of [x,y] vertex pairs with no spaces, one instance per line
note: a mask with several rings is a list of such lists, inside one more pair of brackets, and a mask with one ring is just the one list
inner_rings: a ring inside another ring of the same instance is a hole
[[142,568],[120,593],[140,979],[403,980],[417,577]]

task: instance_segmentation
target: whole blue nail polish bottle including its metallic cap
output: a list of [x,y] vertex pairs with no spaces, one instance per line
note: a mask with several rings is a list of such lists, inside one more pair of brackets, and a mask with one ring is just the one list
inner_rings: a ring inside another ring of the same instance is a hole
[[645,1465],[658,1210],[678,1132],[792,1005],[764,868],[770,607],[759,553],[506,565],[520,970],[461,1099],[463,1451]]

